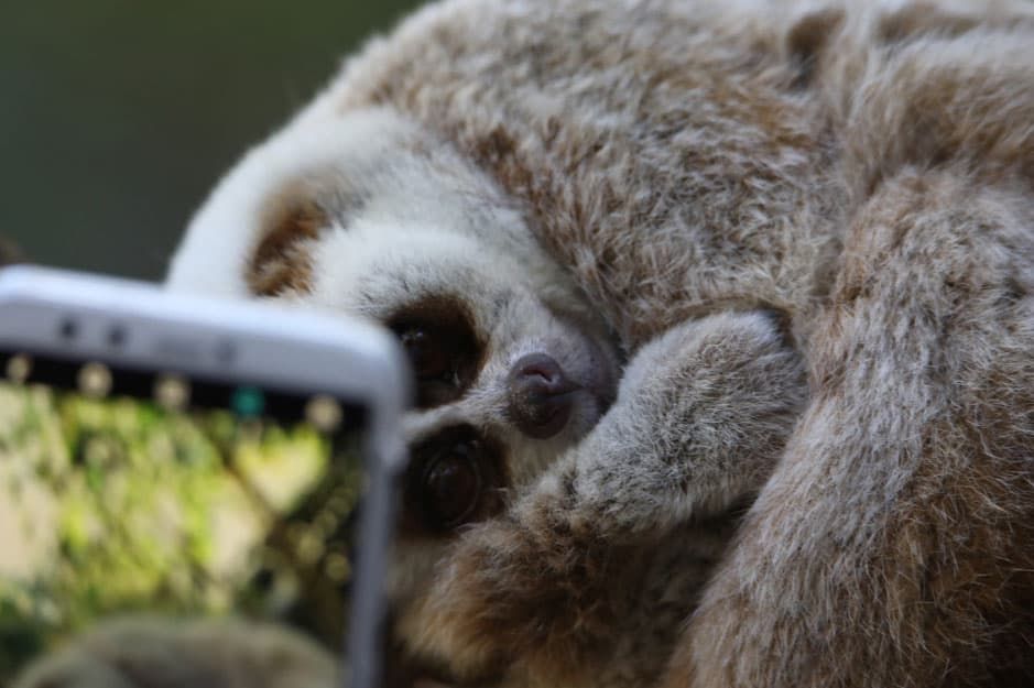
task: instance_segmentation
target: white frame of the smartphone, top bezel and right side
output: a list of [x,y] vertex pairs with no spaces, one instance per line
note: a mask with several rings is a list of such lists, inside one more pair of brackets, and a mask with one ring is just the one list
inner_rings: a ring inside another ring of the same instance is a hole
[[240,380],[366,405],[370,483],[359,526],[345,680],[349,688],[377,685],[393,485],[406,460],[401,415],[411,393],[394,337],[344,315],[18,265],[0,270],[0,349]]

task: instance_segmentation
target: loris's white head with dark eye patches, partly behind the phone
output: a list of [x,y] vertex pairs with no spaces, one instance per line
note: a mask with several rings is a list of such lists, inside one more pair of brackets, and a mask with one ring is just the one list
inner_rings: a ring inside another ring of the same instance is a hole
[[501,513],[616,390],[603,324],[522,209],[385,110],[314,107],[249,153],[194,218],[168,284],[359,315],[398,334],[416,376],[390,582],[400,613],[462,526]]

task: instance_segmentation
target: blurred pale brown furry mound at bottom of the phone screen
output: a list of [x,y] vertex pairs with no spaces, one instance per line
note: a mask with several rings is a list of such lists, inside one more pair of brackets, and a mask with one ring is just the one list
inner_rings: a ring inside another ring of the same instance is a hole
[[333,688],[338,663],[285,629],[132,618],[44,657],[14,688]]

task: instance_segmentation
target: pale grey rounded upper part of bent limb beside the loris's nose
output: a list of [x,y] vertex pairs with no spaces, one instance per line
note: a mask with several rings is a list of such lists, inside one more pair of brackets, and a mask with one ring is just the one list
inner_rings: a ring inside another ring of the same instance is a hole
[[760,488],[806,398],[803,360],[768,313],[668,330],[577,449],[581,517],[620,538],[729,509]]

